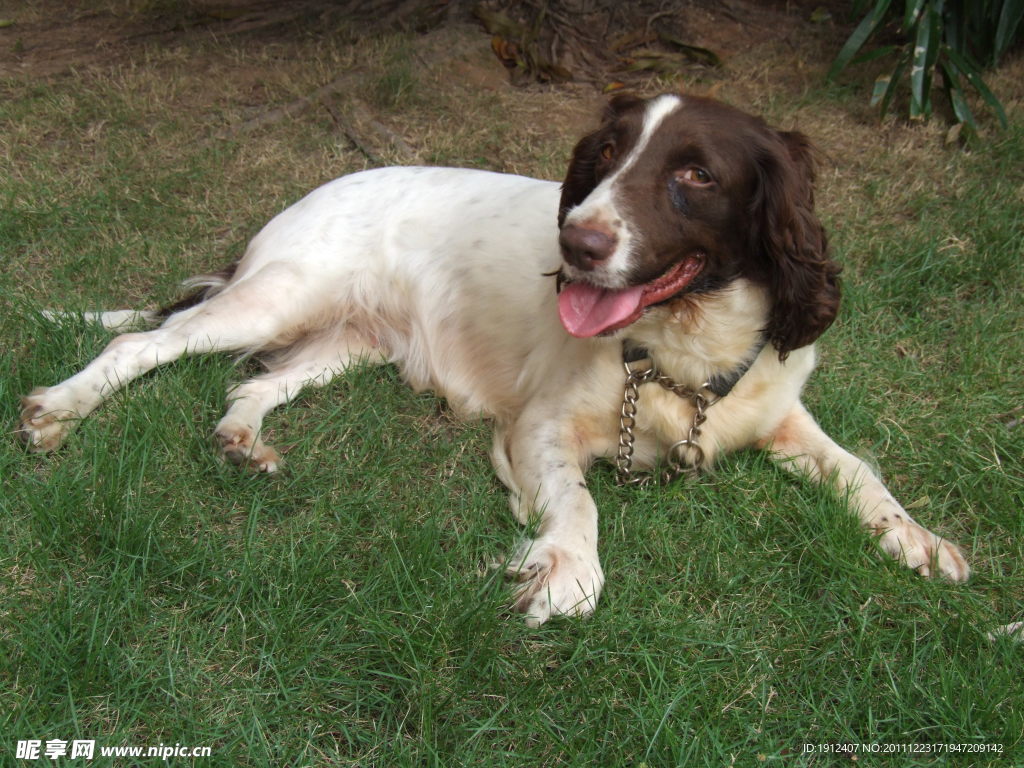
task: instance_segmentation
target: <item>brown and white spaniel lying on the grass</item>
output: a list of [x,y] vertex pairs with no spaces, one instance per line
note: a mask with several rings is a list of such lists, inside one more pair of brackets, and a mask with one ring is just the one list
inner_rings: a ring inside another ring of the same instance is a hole
[[391,362],[494,422],[495,469],[535,531],[509,564],[531,626],[597,604],[585,472],[598,458],[634,481],[659,462],[707,469],[761,449],[844,494],[900,562],[966,580],[956,546],[801,403],[840,303],[813,182],[803,134],[679,94],[613,97],[561,185],[453,168],[344,176],[273,218],[232,268],[195,280],[159,328],[25,397],[19,432],[54,450],[158,365],[258,352],[266,373],[228,392],[215,434],[226,459],[272,472],[271,409],[357,362]]

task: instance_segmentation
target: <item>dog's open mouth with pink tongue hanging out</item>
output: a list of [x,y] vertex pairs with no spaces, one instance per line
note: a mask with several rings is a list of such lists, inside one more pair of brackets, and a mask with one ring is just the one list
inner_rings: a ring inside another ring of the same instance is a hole
[[612,290],[590,283],[565,283],[558,294],[558,315],[565,330],[586,339],[610,334],[636,323],[646,307],[675,296],[703,267],[703,254],[692,254],[649,283]]

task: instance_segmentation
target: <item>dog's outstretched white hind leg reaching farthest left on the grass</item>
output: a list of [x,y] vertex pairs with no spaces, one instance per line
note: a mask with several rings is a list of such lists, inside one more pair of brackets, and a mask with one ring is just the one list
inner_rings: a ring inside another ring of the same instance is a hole
[[[184,354],[272,347],[308,313],[308,292],[289,266],[271,264],[172,314],[160,328],[118,336],[80,373],[23,398],[22,438],[33,451],[57,449],[78,421],[113,392]],[[291,300],[269,311],[268,295],[290,295]]]

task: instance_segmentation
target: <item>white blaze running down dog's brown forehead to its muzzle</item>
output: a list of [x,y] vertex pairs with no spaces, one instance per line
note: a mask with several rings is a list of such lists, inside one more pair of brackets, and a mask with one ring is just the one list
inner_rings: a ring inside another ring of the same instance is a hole
[[[630,150],[629,155],[607,178],[603,179],[594,190],[587,196],[587,199],[579,206],[569,211],[565,217],[566,224],[582,224],[584,222],[599,222],[611,230],[617,241],[615,252],[602,264],[599,269],[595,269],[587,274],[587,280],[608,288],[623,288],[626,285],[632,266],[630,258],[633,247],[633,232],[631,231],[626,212],[615,201],[615,185],[618,178],[637,162],[647,144],[650,143],[651,136],[665,122],[665,119],[682,105],[682,99],[673,94],[665,94],[653,98],[647,102],[644,110],[643,125],[640,128],[640,135],[636,143]],[[572,269],[568,269],[569,276],[573,276]]]

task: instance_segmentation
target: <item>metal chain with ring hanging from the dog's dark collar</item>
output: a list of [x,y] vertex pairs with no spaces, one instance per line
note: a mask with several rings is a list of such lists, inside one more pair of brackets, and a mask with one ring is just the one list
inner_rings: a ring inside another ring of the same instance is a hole
[[[700,447],[700,427],[708,421],[706,411],[714,406],[719,397],[709,400],[703,391],[708,383],[699,389],[690,389],[677,384],[668,376],[657,372],[651,362],[649,368],[633,368],[629,362],[626,367],[626,387],[623,392],[623,409],[618,416],[618,453],[615,456],[615,474],[621,485],[646,485],[652,479],[658,479],[668,484],[680,475],[689,472],[696,474],[703,464],[705,454]],[[633,443],[636,435],[637,400],[640,399],[640,385],[647,382],[660,384],[678,397],[689,400],[693,406],[693,420],[690,422],[686,437],[673,443],[666,454],[668,467],[660,473],[637,474],[633,472]]]

